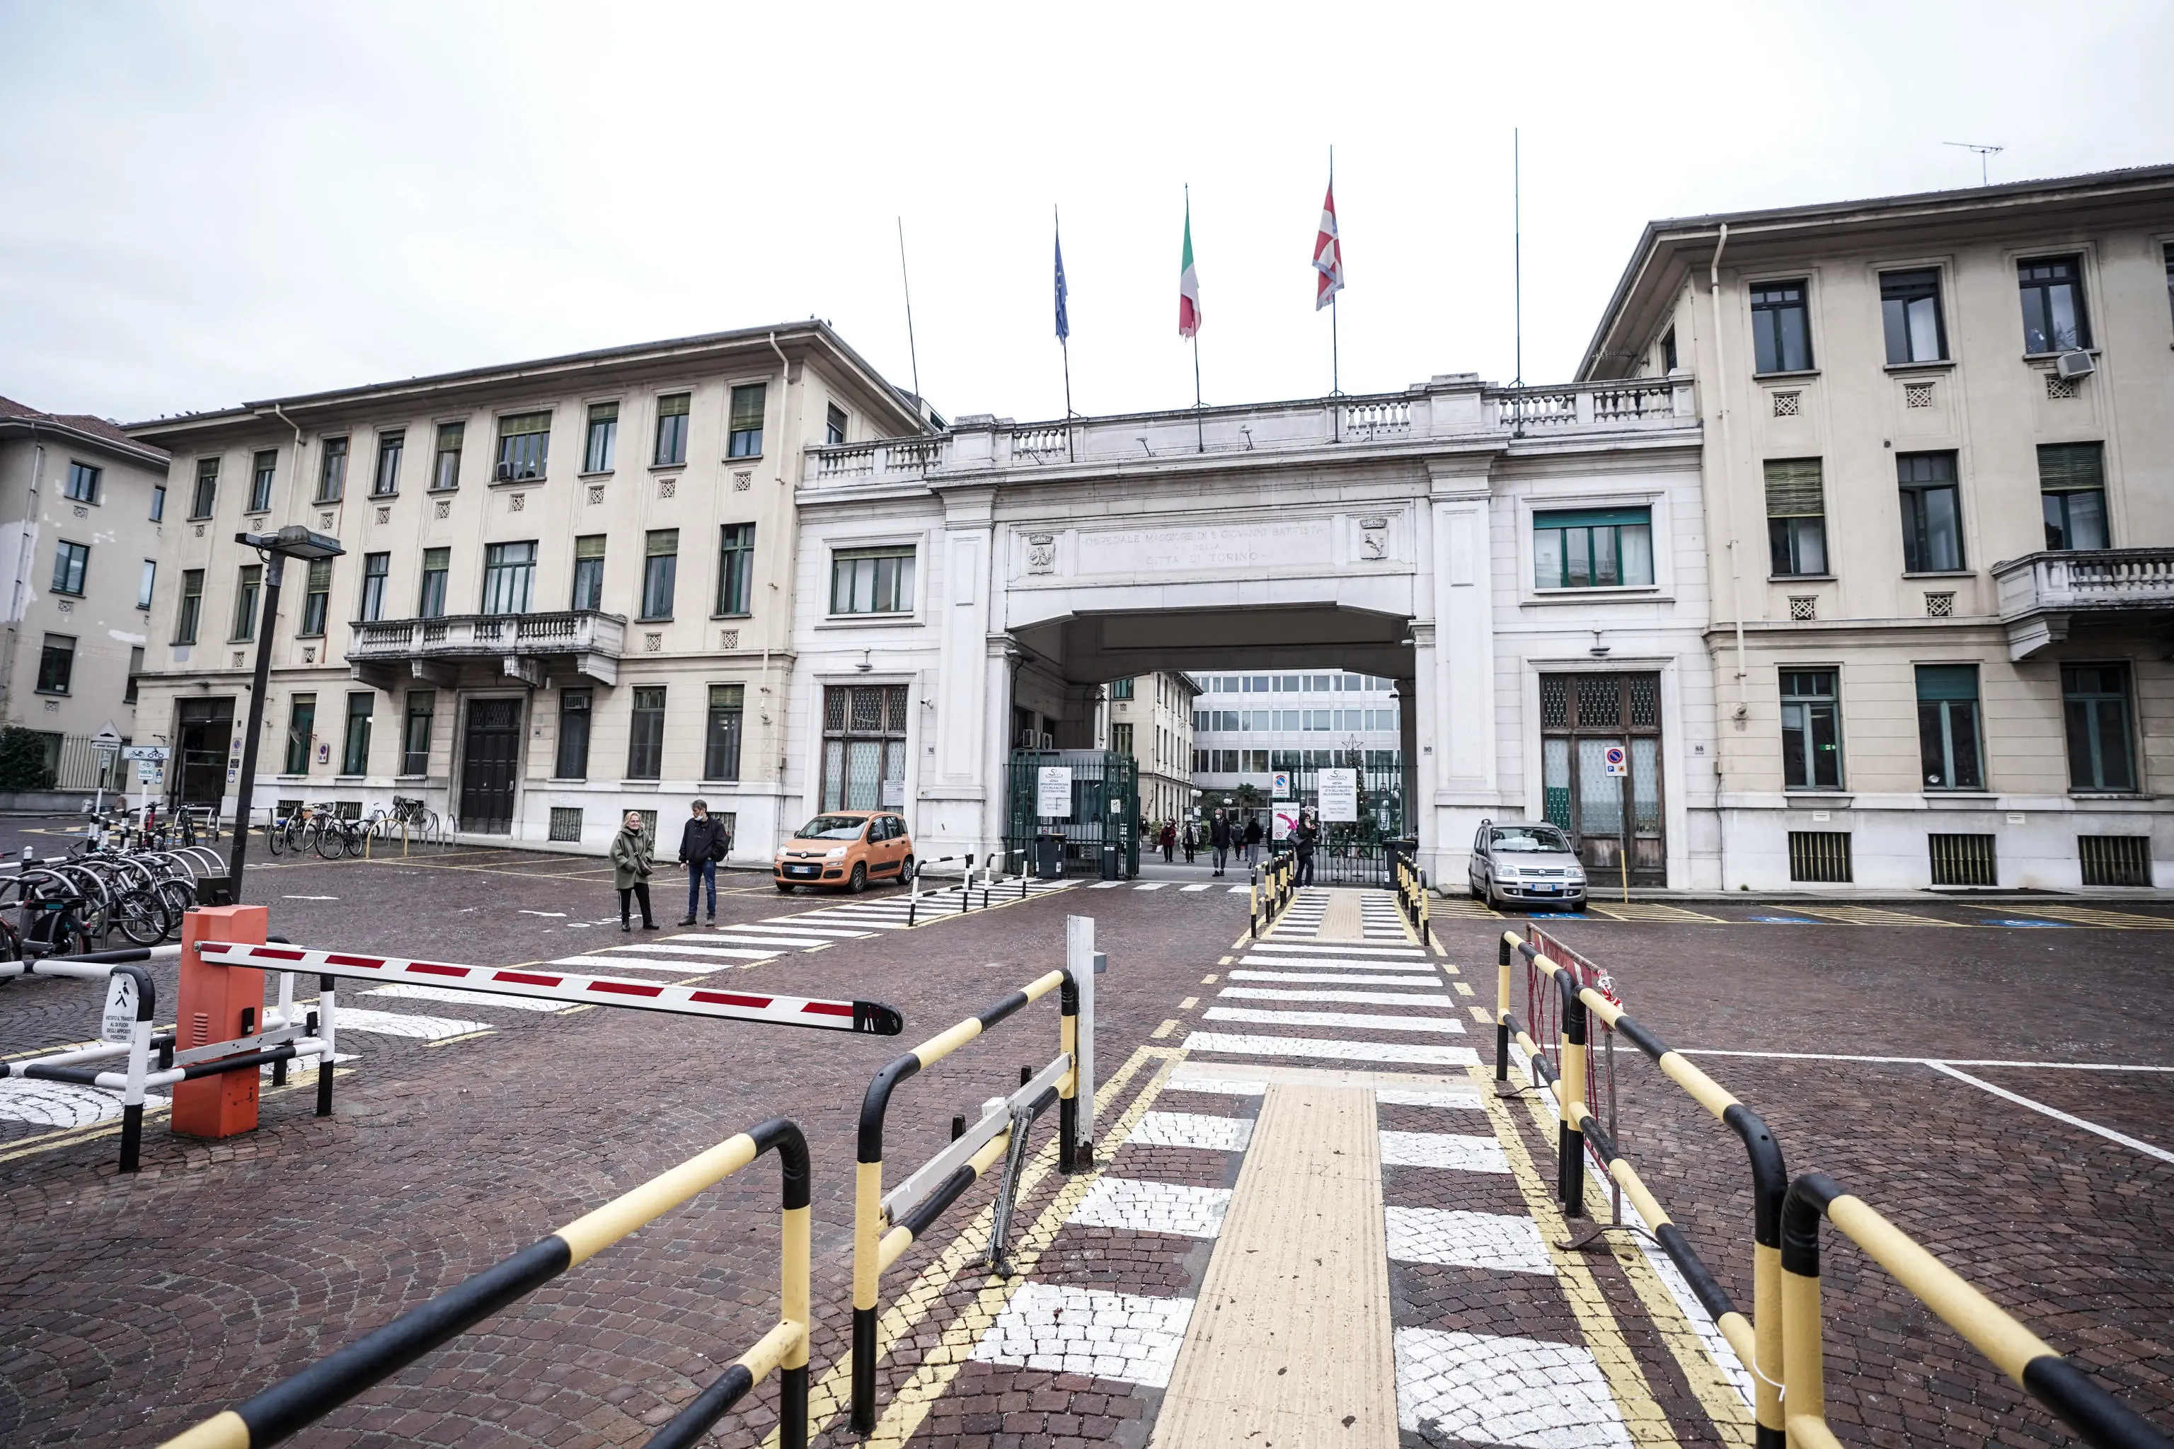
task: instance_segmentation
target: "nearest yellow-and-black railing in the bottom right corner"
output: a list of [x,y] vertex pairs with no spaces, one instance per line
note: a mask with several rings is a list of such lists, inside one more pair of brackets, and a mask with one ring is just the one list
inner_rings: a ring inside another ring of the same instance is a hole
[[1826,1427],[1826,1386],[1820,1314],[1820,1219],[1887,1269],[1911,1297],[1985,1353],[2024,1393],[2044,1403],[2096,1449],[2174,1449],[2157,1427],[2100,1388],[2083,1369],[2054,1353],[2046,1340],[2004,1308],[1972,1288],[1839,1182],[1804,1173],[1789,1184],[1781,1230],[1783,1384],[1791,1449],[1839,1449]]

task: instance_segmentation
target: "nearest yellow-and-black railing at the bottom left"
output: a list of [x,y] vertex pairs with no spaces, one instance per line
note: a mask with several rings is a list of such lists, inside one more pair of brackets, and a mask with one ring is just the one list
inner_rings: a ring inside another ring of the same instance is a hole
[[574,1219],[498,1267],[476,1273],[261,1395],[170,1438],[163,1449],[263,1449],[263,1445],[276,1445],[772,1149],[776,1149],[785,1175],[778,1325],[650,1436],[646,1449],[683,1449],[700,1442],[709,1427],[761,1384],[772,1369],[778,1373],[778,1445],[780,1449],[807,1449],[809,1149],[798,1123],[785,1117],[772,1117],[700,1156],[687,1158],[672,1171],[650,1177],[639,1188]]

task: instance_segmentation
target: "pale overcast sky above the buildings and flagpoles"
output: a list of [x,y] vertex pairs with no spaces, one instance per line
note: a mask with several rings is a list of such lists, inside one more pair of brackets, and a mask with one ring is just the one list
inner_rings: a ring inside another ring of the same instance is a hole
[[141,419],[828,317],[944,411],[1567,380],[1650,217],[2174,161],[2174,7],[0,0],[0,393]]

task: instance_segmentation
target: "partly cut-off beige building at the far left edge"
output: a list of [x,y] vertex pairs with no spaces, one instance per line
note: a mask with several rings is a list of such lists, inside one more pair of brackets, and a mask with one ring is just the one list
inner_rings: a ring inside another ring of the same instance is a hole
[[0,723],[48,736],[61,789],[91,789],[89,739],[137,730],[135,673],[152,604],[176,584],[159,567],[167,458],[115,424],[0,398]]

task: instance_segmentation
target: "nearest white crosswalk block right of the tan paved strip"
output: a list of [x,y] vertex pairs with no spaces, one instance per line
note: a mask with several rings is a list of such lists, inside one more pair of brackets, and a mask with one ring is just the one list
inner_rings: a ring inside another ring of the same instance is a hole
[[1530,1449],[1630,1449],[1591,1349],[1537,1338],[1396,1330],[1396,1425]]

